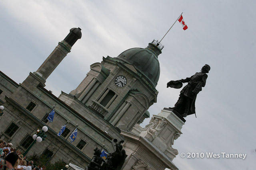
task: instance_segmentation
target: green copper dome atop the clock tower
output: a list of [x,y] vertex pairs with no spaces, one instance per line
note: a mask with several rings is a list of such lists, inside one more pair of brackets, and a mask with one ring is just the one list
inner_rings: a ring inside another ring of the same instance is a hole
[[144,49],[128,49],[118,55],[116,59],[120,59],[128,64],[132,64],[136,70],[146,76],[150,84],[156,87],[160,76],[158,55],[161,53],[161,50],[156,45],[149,43],[148,47]]

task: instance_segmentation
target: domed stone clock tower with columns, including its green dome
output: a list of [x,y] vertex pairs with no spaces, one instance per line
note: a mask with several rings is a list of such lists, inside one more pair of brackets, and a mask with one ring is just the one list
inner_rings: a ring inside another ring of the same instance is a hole
[[[117,57],[94,63],[75,90],[59,98],[84,117],[97,115],[104,123],[130,131],[149,117],[156,103],[160,75],[158,55],[163,46],[152,41],[146,48],[132,48]],[[98,119],[98,118],[97,118]]]

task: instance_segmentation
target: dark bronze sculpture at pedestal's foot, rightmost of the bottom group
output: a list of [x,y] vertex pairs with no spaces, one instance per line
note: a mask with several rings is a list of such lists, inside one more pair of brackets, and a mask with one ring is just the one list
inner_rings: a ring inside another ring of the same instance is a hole
[[117,139],[114,139],[114,142],[116,143],[116,151],[108,154],[106,162],[104,162],[100,170],[121,170],[126,157],[125,150],[121,145],[124,141],[117,143]]

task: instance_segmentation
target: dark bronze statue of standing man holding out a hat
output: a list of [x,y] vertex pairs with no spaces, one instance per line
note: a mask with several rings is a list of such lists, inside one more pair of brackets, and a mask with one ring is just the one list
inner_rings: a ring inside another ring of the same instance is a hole
[[193,76],[181,79],[177,81],[170,81],[167,83],[167,88],[181,88],[182,83],[188,82],[188,84],[181,90],[180,97],[174,107],[169,107],[180,113],[183,117],[187,115],[196,114],[195,101],[196,95],[202,90],[202,87],[206,84],[207,74],[210,71],[210,66],[205,64],[201,72],[197,72]]

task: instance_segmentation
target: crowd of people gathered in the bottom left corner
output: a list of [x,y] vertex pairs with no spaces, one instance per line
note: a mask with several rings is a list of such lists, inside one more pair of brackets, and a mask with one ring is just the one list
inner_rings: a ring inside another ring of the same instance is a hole
[[46,170],[45,166],[34,166],[33,160],[27,160],[12,143],[0,141],[0,170]]

